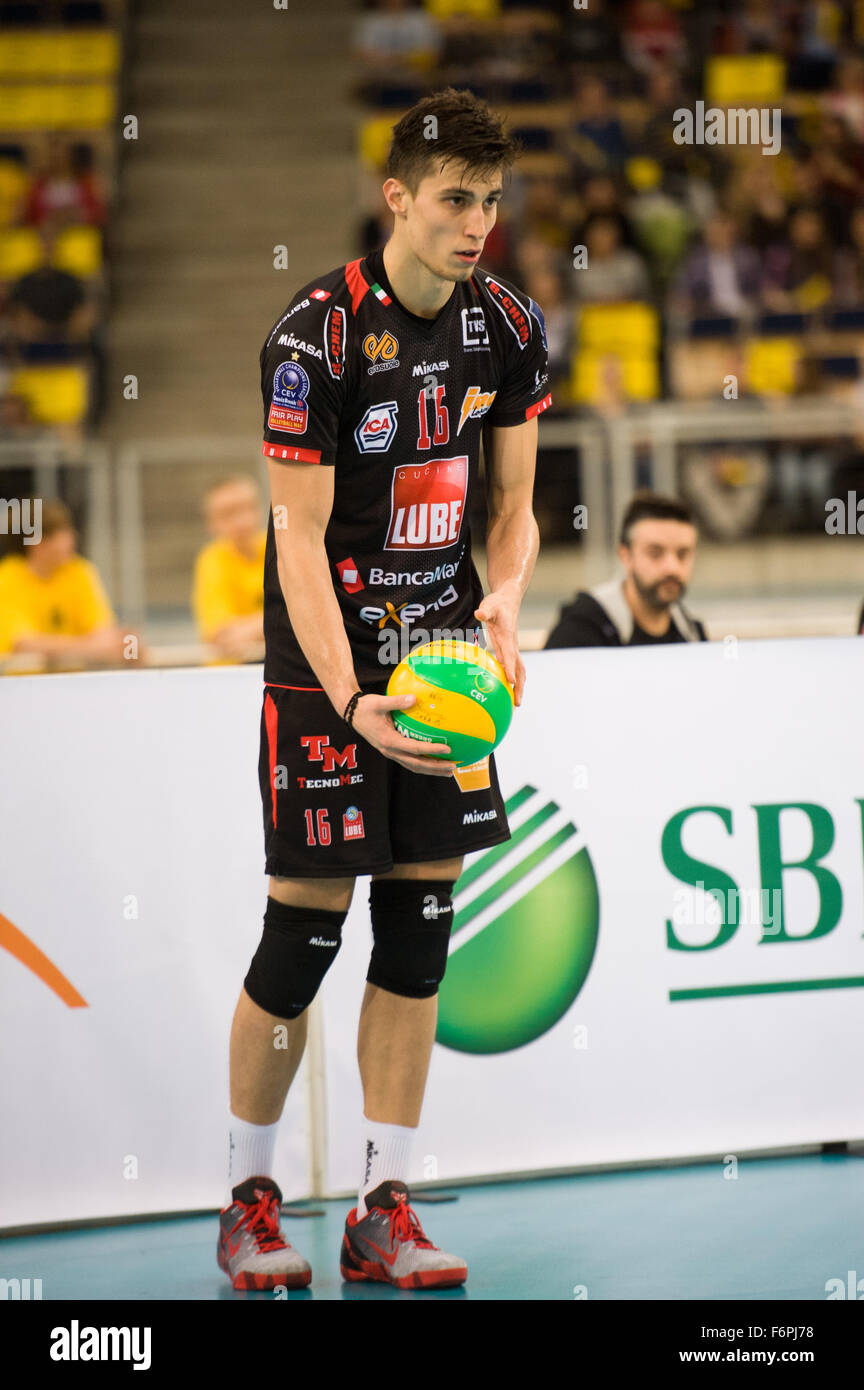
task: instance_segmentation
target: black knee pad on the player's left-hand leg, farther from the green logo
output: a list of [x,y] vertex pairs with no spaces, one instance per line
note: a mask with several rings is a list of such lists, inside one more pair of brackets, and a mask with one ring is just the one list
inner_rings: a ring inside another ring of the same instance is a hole
[[260,1009],[296,1019],[315,998],[342,945],[347,912],[267,899],[264,935],[243,987]]

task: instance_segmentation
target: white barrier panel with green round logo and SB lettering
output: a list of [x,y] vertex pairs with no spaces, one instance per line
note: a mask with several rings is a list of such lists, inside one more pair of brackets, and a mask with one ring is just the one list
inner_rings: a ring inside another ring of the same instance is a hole
[[[513,840],[456,887],[414,1182],[864,1134],[863,663],[858,638],[525,656]],[[367,898],[324,991],[333,1193]]]

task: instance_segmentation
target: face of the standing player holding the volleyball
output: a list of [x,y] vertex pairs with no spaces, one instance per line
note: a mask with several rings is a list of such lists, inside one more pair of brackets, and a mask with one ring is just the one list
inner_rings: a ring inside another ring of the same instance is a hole
[[465,281],[495,227],[501,197],[499,175],[474,179],[458,167],[421,179],[404,196],[404,232],[414,256],[440,279]]

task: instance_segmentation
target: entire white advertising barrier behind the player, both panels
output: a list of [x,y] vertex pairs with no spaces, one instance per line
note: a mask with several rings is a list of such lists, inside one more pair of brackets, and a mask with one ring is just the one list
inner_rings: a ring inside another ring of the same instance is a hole
[[[857,638],[525,656],[513,840],[457,884],[413,1180],[864,1133],[863,660]],[[1,1226],[222,1201],[260,701],[261,667],[0,682]],[[326,1193],[360,1172],[369,944],[361,878],[321,995]],[[306,1115],[301,1073],[289,1197]]]

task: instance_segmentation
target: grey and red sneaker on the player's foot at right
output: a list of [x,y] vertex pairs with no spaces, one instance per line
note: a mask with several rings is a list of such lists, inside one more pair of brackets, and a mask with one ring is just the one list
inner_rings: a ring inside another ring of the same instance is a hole
[[468,1266],[424,1234],[408,1207],[404,1183],[381,1183],[365,1198],[367,1215],[353,1207],[344,1223],[342,1277],[374,1279],[397,1289],[449,1289],[464,1284]]

